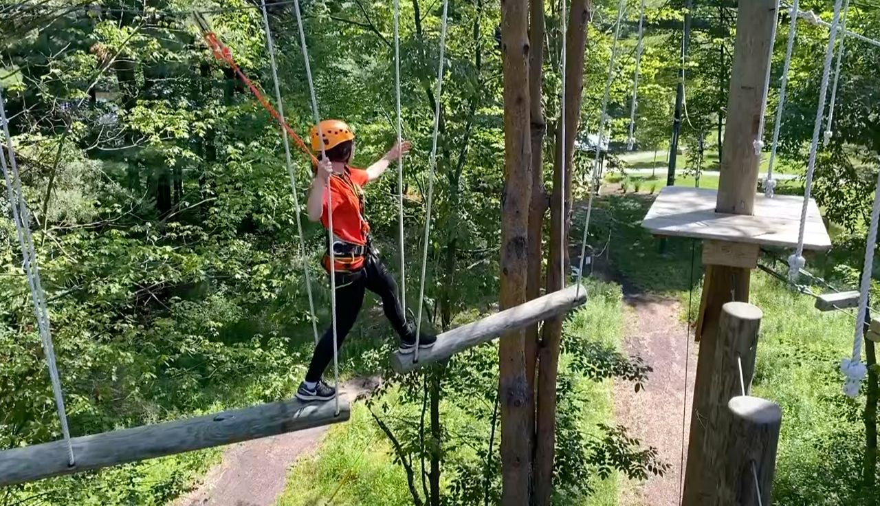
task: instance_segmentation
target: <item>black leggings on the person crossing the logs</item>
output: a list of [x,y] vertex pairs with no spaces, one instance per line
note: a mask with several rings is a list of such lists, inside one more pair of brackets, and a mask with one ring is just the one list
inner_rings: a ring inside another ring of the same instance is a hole
[[[364,290],[370,290],[382,297],[385,318],[391,322],[397,334],[400,336],[407,334],[407,318],[397,297],[397,282],[394,282],[394,278],[388,274],[388,269],[378,257],[367,255],[360,275],[357,275],[353,282],[341,285],[337,277],[336,283],[336,349],[342,347],[345,336],[355,325],[357,313],[361,311],[363,304]],[[318,381],[332,361],[333,323],[327,327],[321,340],[318,341],[318,346],[315,347],[312,363],[305,373],[305,381]]]

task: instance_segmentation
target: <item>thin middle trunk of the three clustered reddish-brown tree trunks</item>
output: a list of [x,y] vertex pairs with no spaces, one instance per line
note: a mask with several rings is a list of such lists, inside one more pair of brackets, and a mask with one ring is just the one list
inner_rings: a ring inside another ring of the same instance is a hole
[[[544,137],[546,119],[541,104],[544,63],[544,0],[531,0],[529,27],[529,101],[532,121],[532,200],[529,202],[529,253],[525,298],[532,300],[541,294],[541,266],[544,254],[541,241],[544,236],[544,214],[547,209],[544,188]],[[535,431],[535,372],[538,367],[538,324],[525,329],[525,377],[529,383],[529,454],[534,455]]]

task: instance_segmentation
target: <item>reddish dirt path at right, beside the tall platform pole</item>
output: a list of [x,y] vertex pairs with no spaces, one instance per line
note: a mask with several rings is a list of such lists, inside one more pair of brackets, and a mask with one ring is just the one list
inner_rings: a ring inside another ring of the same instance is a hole
[[[630,308],[624,347],[628,354],[642,356],[654,368],[642,392],[631,384],[619,382],[614,387],[614,411],[618,422],[642,444],[654,446],[659,457],[671,465],[664,476],[627,490],[622,506],[674,506],[678,504],[681,479],[682,401],[685,388],[686,336],[678,301],[625,292]],[[693,335],[690,338],[693,340]],[[697,364],[697,346],[691,342],[687,368],[686,430],[690,427],[693,378]],[[685,441],[685,444],[687,442]]]

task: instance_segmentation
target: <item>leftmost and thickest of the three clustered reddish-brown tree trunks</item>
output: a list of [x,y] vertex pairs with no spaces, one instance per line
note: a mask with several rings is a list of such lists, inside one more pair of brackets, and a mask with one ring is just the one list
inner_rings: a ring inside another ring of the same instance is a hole
[[[532,194],[532,152],[529,131],[528,0],[501,4],[504,86],[504,189],[500,260],[501,309],[525,302],[529,202]],[[499,350],[501,399],[502,504],[528,502],[529,456],[528,381],[524,331],[502,335]]]

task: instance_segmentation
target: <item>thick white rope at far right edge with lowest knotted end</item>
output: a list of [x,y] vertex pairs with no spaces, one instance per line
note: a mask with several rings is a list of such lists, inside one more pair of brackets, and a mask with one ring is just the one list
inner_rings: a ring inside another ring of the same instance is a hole
[[868,369],[862,363],[862,341],[865,334],[865,315],[868,313],[868,296],[871,289],[871,275],[874,271],[874,248],[877,243],[877,222],[880,221],[880,172],[877,172],[877,186],[874,194],[874,207],[871,209],[871,223],[865,245],[865,263],[862,268],[862,286],[859,292],[859,310],[855,316],[853,354],[840,361],[840,372],[846,377],[843,392],[849,397],[859,394],[859,384]]

